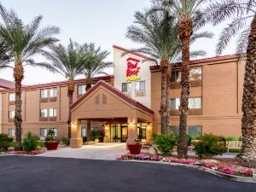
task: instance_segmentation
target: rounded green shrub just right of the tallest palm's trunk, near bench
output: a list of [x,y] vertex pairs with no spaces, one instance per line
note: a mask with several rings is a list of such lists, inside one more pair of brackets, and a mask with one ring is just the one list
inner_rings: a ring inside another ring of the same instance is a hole
[[205,134],[200,138],[198,143],[195,145],[195,154],[201,158],[211,158],[214,155],[223,154],[226,150],[224,143],[219,142],[218,136],[212,134]]

